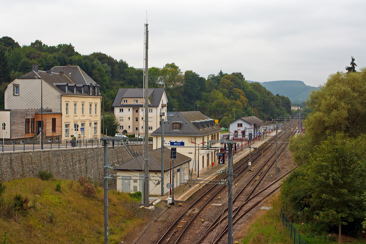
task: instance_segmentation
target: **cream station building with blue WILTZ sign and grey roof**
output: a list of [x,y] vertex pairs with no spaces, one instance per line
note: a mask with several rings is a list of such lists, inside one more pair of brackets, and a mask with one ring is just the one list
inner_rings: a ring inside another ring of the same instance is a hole
[[[190,170],[194,174],[201,174],[215,166],[219,149],[206,149],[210,140],[220,139],[219,128],[213,119],[203,115],[199,111],[178,112],[164,123],[164,146],[169,149],[176,147],[177,153],[193,157]],[[161,148],[161,127],[152,134],[153,149]],[[197,144],[195,144],[197,143]],[[198,146],[200,147],[198,153]],[[205,147],[202,148],[201,147]],[[220,147],[212,143],[213,147]]]

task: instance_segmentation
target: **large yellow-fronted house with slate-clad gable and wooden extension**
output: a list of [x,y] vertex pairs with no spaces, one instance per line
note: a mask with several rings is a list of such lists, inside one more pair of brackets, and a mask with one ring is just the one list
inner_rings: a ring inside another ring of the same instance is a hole
[[32,71],[4,88],[5,109],[12,111],[14,122],[12,138],[27,140],[40,134],[41,97],[44,139],[100,138],[99,86],[79,67],[65,68],[73,67],[72,72],[79,75],[72,76],[72,72],[65,69],[57,71],[56,67],[40,71],[38,64],[33,64]]

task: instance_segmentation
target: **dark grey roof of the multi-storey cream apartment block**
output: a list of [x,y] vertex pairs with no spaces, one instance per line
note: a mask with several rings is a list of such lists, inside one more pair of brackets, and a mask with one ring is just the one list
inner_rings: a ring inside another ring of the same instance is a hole
[[[157,107],[160,104],[161,97],[163,96],[164,88],[149,88],[148,95],[150,104],[149,107]],[[152,97],[151,97],[152,95]],[[113,102],[113,107],[123,107],[123,106],[131,106],[131,104],[121,104],[123,98],[142,98],[143,97],[143,89],[142,88],[121,88],[118,90],[116,98]],[[134,104],[134,106],[142,106],[142,104]]]

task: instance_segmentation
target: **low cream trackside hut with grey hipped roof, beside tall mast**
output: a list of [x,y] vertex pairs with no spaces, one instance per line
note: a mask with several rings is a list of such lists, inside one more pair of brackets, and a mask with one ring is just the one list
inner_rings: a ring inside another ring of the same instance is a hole
[[[189,162],[192,160],[177,152],[174,159],[174,188],[188,180]],[[117,191],[142,192],[143,182],[143,155],[128,160],[115,168],[117,172]],[[168,193],[167,183],[171,182],[170,149],[164,148],[164,194]],[[149,151],[149,194],[161,194],[161,149]],[[121,179],[122,178],[122,179]]]

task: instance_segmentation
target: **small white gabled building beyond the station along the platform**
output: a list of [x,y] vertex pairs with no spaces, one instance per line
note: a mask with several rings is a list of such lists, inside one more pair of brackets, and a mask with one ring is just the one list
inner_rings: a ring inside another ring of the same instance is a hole
[[248,116],[248,117],[240,117],[231,123],[229,123],[230,136],[234,136],[235,138],[246,138],[249,133],[253,133],[253,136],[258,136],[265,132],[265,124],[261,119],[258,119],[255,116]]

